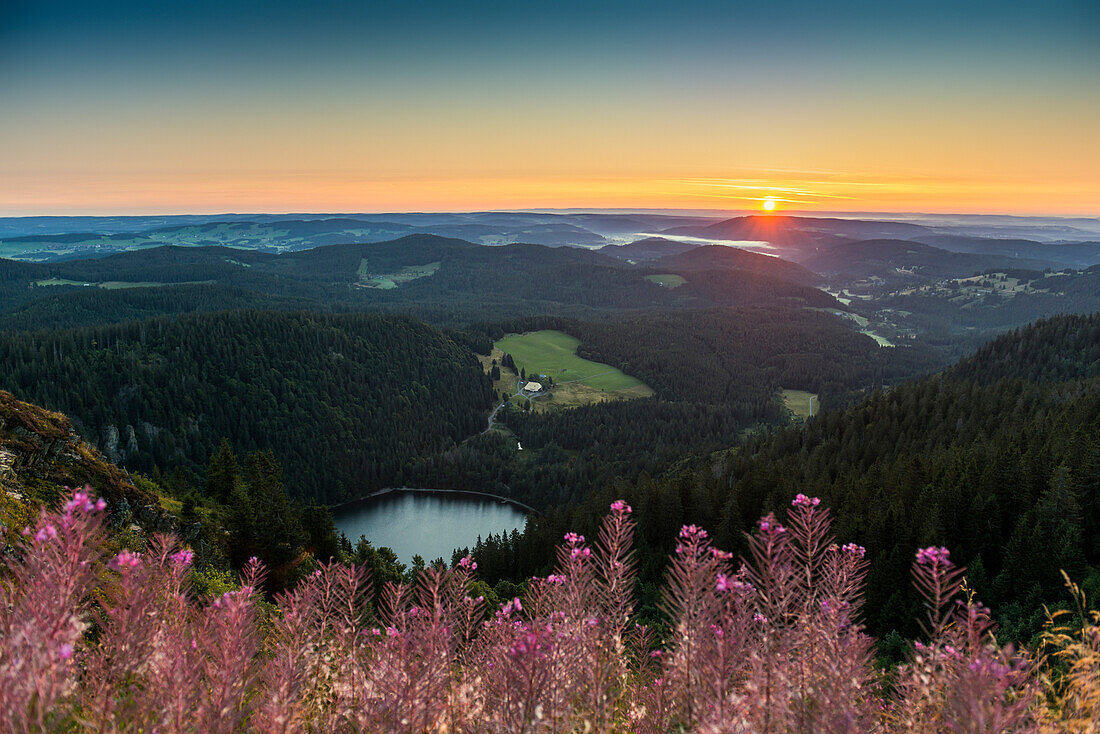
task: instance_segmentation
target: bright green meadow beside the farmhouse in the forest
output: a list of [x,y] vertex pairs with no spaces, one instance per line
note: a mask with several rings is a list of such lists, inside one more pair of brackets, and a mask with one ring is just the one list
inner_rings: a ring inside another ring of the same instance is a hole
[[548,329],[508,335],[496,342],[496,348],[512,354],[516,366],[526,370],[528,375],[550,375],[554,385],[581,383],[605,392],[629,391],[631,396],[639,397],[653,394],[646,383],[622,370],[578,357],[580,343],[575,337]]

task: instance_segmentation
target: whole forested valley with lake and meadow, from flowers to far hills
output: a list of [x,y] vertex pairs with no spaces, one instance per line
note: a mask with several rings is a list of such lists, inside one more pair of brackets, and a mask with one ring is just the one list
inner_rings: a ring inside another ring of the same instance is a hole
[[[327,557],[398,580],[470,554],[501,601],[625,497],[637,615],[659,623],[648,590],[676,528],[745,554],[756,518],[812,489],[867,548],[880,638],[917,634],[901,549],[945,543],[1005,634],[1031,639],[1059,587],[1030,570],[1028,538],[1087,583],[1100,558],[1100,337],[1072,315],[1100,310],[1098,265],[998,269],[1000,254],[851,239],[924,237],[895,224],[706,226],[770,237],[771,255],[411,234],[0,261],[0,388],[68,416],[130,478],[112,495],[143,508],[127,543],[178,528],[210,573],[260,554],[273,588]],[[22,486],[4,523],[56,495]],[[435,493],[372,497],[409,486]],[[1044,535],[1053,502],[1077,507],[1056,521],[1068,545]]]

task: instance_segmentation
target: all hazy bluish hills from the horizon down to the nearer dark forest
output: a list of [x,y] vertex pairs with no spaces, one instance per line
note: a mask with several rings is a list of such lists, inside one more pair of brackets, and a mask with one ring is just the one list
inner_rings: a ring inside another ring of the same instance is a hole
[[[927,340],[938,349],[1091,307],[1100,220],[714,211],[32,217],[0,219],[0,254],[23,261],[0,261],[0,326],[9,328],[240,307],[397,310],[462,325],[490,315],[782,305],[848,313],[849,325],[883,343]],[[1057,278],[1044,273],[1064,270]],[[987,274],[992,280],[977,277]]]

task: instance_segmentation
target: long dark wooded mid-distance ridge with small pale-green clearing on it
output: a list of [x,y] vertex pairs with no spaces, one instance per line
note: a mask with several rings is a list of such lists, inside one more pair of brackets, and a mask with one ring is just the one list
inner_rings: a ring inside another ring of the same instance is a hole
[[[639,308],[838,306],[832,296],[807,287],[801,269],[795,273],[778,261],[766,264],[768,275],[719,263],[714,272],[693,274],[686,287],[672,289],[649,282],[651,269],[592,250],[487,248],[430,234],[280,254],[161,247],[63,263],[0,260],[0,328],[55,326],[51,314],[64,311],[68,299],[74,314],[81,315],[76,322],[65,319],[72,326],[195,310],[168,295],[185,287],[213,308],[250,306],[251,292],[257,307],[402,311],[446,326],[486,317],[586,317]],[[150,289],[160,293],[147,295]],[[48,309],[40,307],[47,300]],[[166,310],[156,311],[158,303]]]

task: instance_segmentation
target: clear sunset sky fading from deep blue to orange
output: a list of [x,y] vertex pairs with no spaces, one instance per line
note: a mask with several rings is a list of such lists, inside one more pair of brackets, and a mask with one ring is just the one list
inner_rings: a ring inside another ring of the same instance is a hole
[[1100,216],[1100,2],[0,0],[0,216]]

